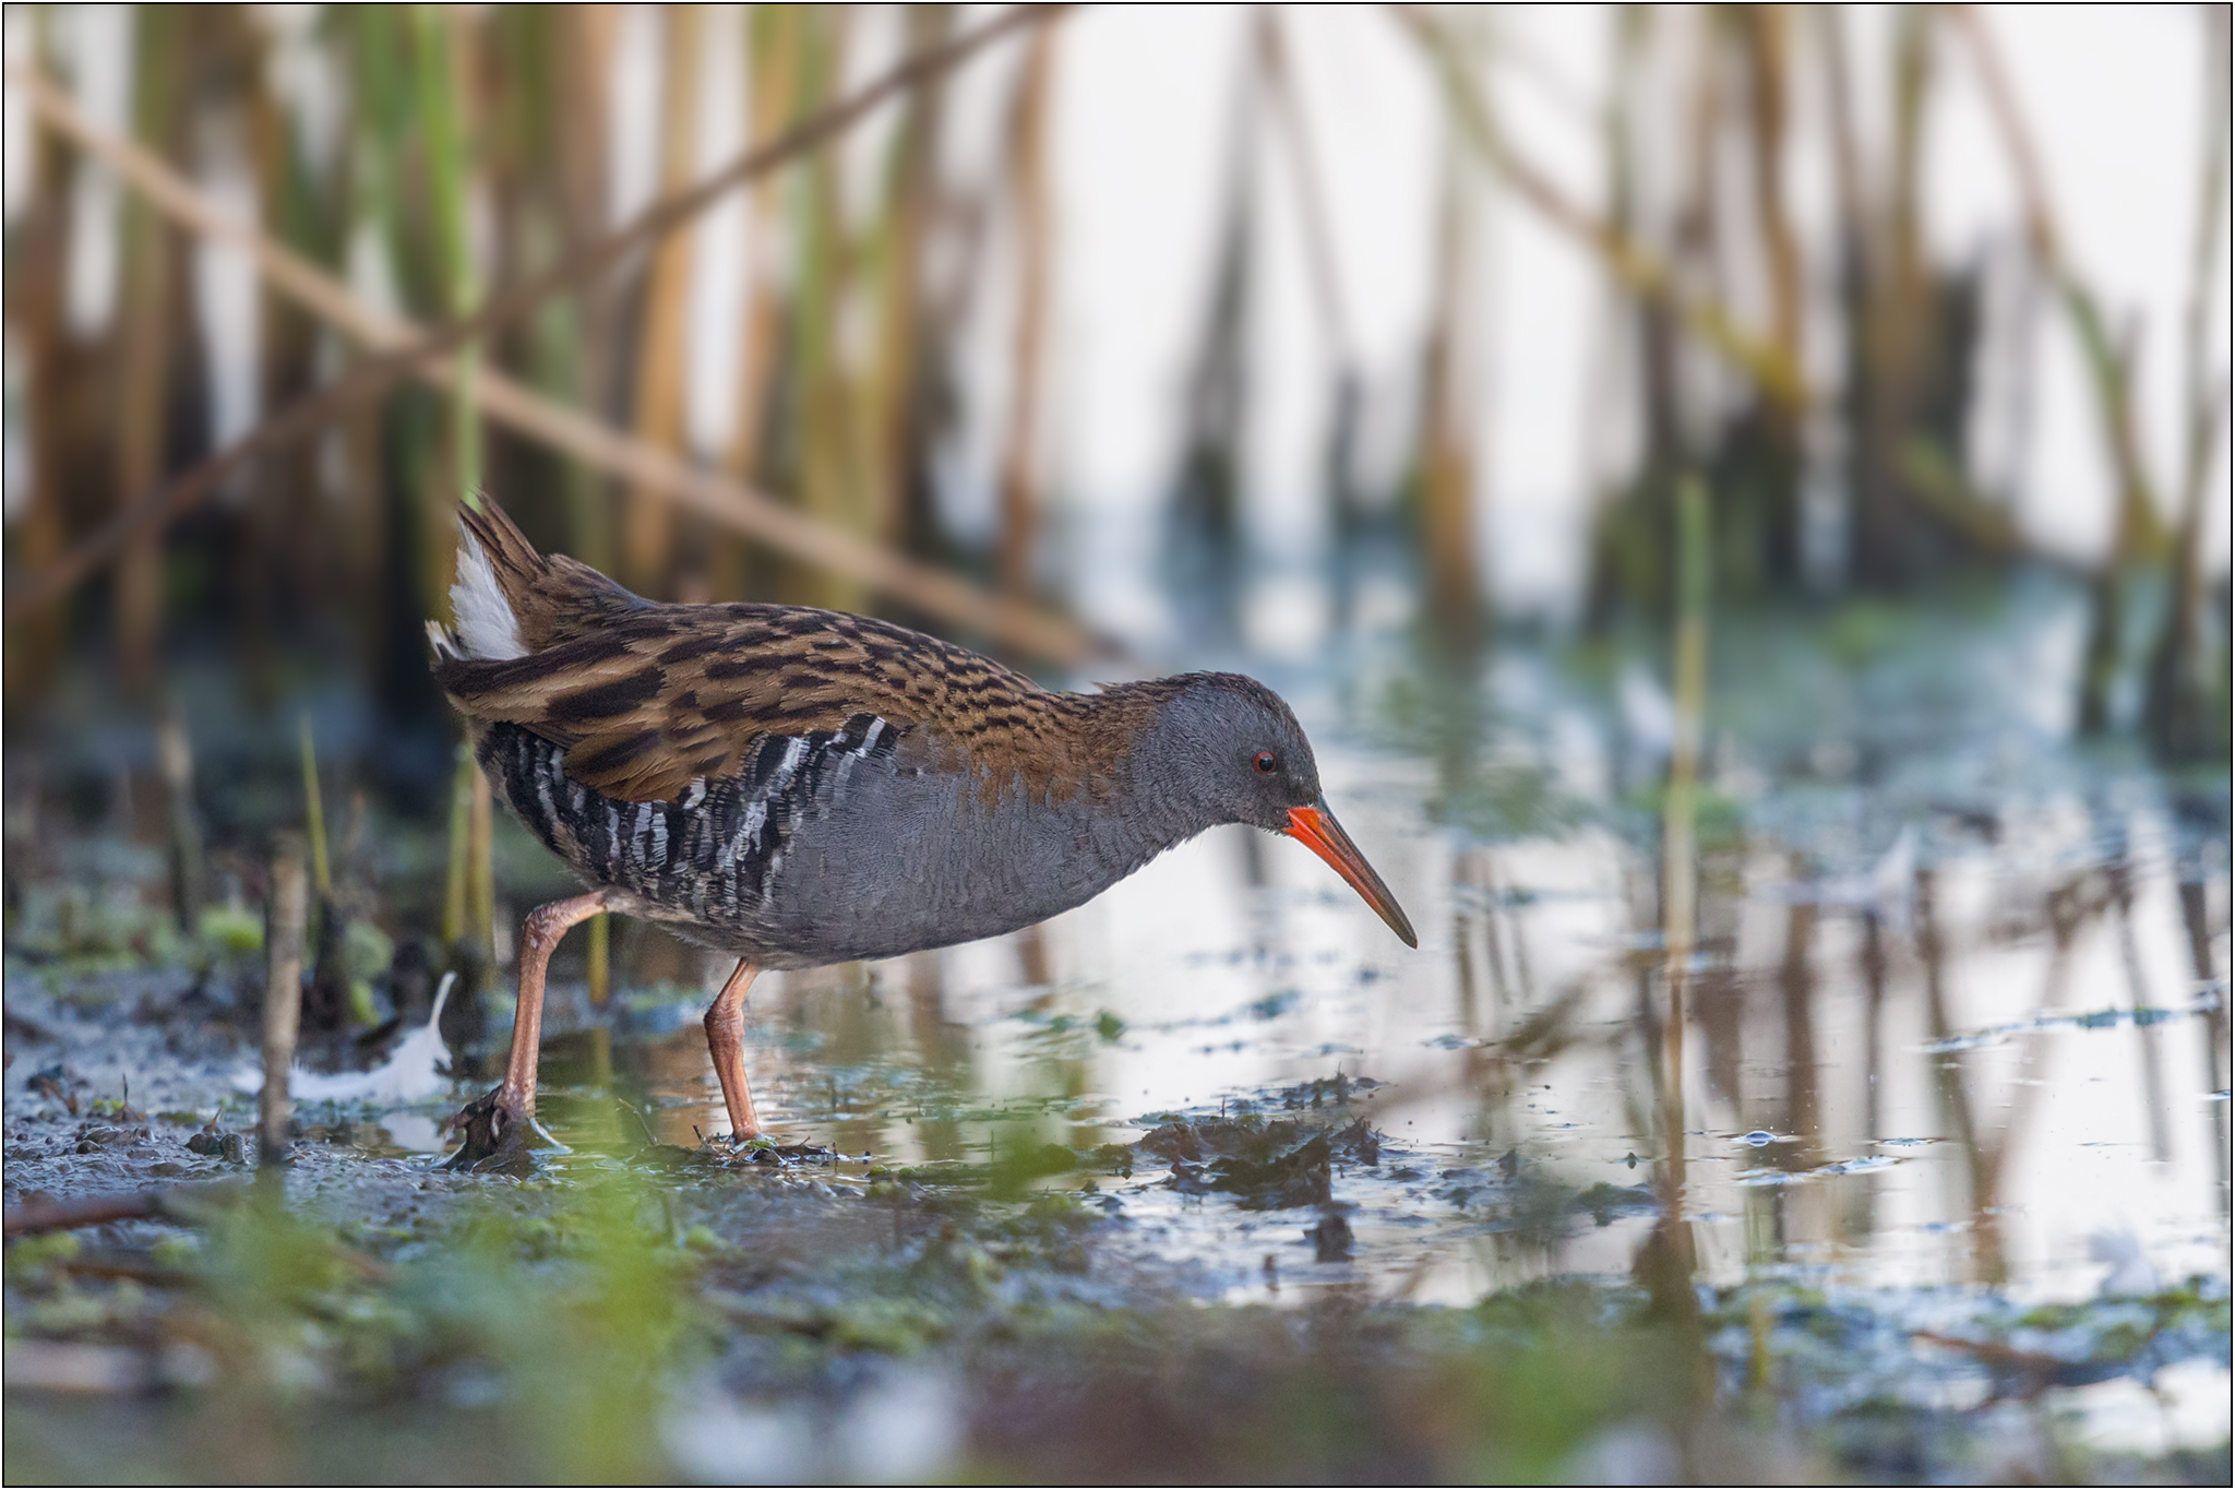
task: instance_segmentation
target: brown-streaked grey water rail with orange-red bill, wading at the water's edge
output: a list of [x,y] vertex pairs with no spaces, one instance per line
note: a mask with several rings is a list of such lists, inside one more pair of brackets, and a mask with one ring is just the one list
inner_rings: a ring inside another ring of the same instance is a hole
[[485,498],[460,509],[451,610],[427,625],[436,679],[496,793],[590,887],[521,927],[512,1054],[456,1119],[460,1166],[525,1155],[545,967],[599,911],[738,958],[706,1045],[740,1139],[760,1133],[758,972],[1015,932],[1211,827],[1303,842],[1419,945],[1328,811],[1296,715],[1249,677],[1053,693],[887,621],[662,605],[536,552]]

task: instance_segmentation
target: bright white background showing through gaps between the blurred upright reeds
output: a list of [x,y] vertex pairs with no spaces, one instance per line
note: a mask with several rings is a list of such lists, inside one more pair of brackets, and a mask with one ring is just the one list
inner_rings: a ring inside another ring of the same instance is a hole
[[[286,7],[273,7],[279,13]],[[986,7],[972,7],[983,13]],[[662,20],[628,7],[615,49],[615,214],[648,201],[657,172]],[[744,134],[740,7],[702,20],[700,163],[738,150]],[[1596,208],[1602,156],[1596,116],[1607,89],[1614,13],[1596,7],[1497,7],[1489,47],[1504,60],[1489,80],[1511,134],[1578,201]],[[1665,18],[1661,18],[1665,20]],[[1851,16],[1855,98],[1866,150],[1884,141],[1889,13]],[[2193,7],[1991,7],[2049,174],[2070,259],[2114,322],[2132,326],[2141,357],[2143,445],[2161,496],[2179,483],[2181,335],[2201,161],[2204,27]],[[1044,460],[1048,529],[1066,552],[1055,570],[1077,585],[1086,614],[1118,630],[1155,628],[1153,523],[1176,462],[1180,402],[1209,290],[1231,154],[1234,92],[1249,45],[1243,7],[1093,7],[1062,22],[1055,58],[1050,168],[1055,179],[1055,304],[1048,322]],[[1397,462],[1408,424],[1428,306],[1437,192],[1448,147],[1433,80],[1413,45],[1375,7],[1290,7],[1290,56],[1332,217],[1341,295],[1357,335],[1368,400],[1368,465]],[[123,123],[132,20],[127,7],[56,13],[56,60],[105,123]],[[293,27],[279,27],[293,29]],[[11,58],[29,27],[7,29]],[[901,45],[890,18],[865,16],[872,42],[854,71]],[[1017,42],[966,65],[948,141],[966,176],[999,168]],[[1942,261],[2009,250],[2016,192],[1969,60],[1940,47],[1927,141],[1927,232]],[[1808,83],[1806,67],[1801,83]],[[7,109],[9,214],[22,203],[27,118]],[[878,130],[890,127],[881,121]],[[849,188],[869,185],[876,147],[856,141]],[[1817,101],[1801,87],[1788,188],[1810,248],[1813,293],[1828,275]],[[867,168],[867,170],[863,170]],[[226,183],[217,170],[212,185]],[[239,194],[253,210],[253,192]],[[1245,440],[1247,527],[1263,567],[1303,570],[1323,552],[1321,447],[1334,346],[1307,279],[1303,219],[1290,156],[1272,127],[1258,154],[1258,264],[1252,324],[1252,404]],[[67,286],[69,319],[92,331],[114,304],[116,188],[80,176],[72,201],[87,246]],[[1010,255],[1001,226],[986,239],[986,275],[966,328],[966,433],[952,514],[986,532],[1010,378]],[[758,246],[742,203],[708,214],[695,239],[688,438],[702,456],[726,442],[740,409],[744,288]],[[780,252],[780,248],[778,248]],[[1489,190],[1477,241],[1482,366],[1477,369],[1477,547],[1497,603],[1520,612],[1573,608],[1589,507],[1632,447],[1627,400],[1609,400],[1605,281],[1585,252],[1511,194]],[[215,268],[215,266],[210,266]],[[228,281],[230,286],[230,281]],[[206,286],[208,288],[208,286]],[[2228,268],[2219,261],[2217,346],[2226,364]],[[1741,297],[1741,308],[1746,299]],[[226,317],[219,317],[224,322]],[[212,322],[212,328],[219,324]],[[244,331],[253,337],[253,328]],[[212,371],[239,382],[239,348],[212,335]],[[1815,369],[1837,364],[1810,348]],[[2012,491],[2027,532],[2079,558],[2110,536],[2112,480],[2094,404],[2070,328],[2043,308],[2034,328],[2029,411],[2014,451],[1982,433],[1976,476]],[[2007,389],[1994,400],[2007,402]],[[219,400],[228,431],[246,413]],[[2003,407],[2000,402],[1996,407]],[[2007,436],[2007,431],[2003,431]],[[2005,438],[2007,442],[2007,438]],[[1375,451],[1379,449],[1379,460]],[[2213,563],[2228,558],[2228,465],[2217,460],[2208,503]],[[1310,610],[1310,608],[1305,608]],[[1323,619],[1301,614],[1312,634]]]

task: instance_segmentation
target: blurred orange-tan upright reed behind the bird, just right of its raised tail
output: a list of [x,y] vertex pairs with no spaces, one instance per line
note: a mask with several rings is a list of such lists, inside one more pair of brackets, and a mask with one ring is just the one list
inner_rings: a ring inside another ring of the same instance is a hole
[[[702,7],[659,11],[666,38],[659,63],[659,190],[675,194],[697,174],[697,78]],[[682,226],[653,252],[637,337],[633,424],[639,440],[684,445],[684,357],[691,313],[691,239]],[[657,487],[635,485],[621,505],[621,574],[644,594],[668,592],[675,505]]]

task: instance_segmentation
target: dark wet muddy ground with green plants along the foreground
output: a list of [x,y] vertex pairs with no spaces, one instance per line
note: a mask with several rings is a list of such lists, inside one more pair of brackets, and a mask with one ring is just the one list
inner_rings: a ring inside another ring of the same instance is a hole
[[[2224,1450],[2085,1434],[2224,1363],[2208,1280],[2032,1311],[1757,1282],[1683,1318],[1618,1278],[1379,1298],[1348,1215],[1424,1175],[1370,1077],[948,1168],[668,1144],[615,1101],[603,1144],[525,1179],[329,1101],[259,1175],[244,1052],[210,978],[9,963],[11,1226],[159,1197],[11,1235],[13,1483],[2226,1477]],[[1520,1235],[1652,1209],[1518,1155],[1426,1179]],[[1135,1213],[1173,1195],[1263,1220],[1254,1298],[1160,1255]]]

